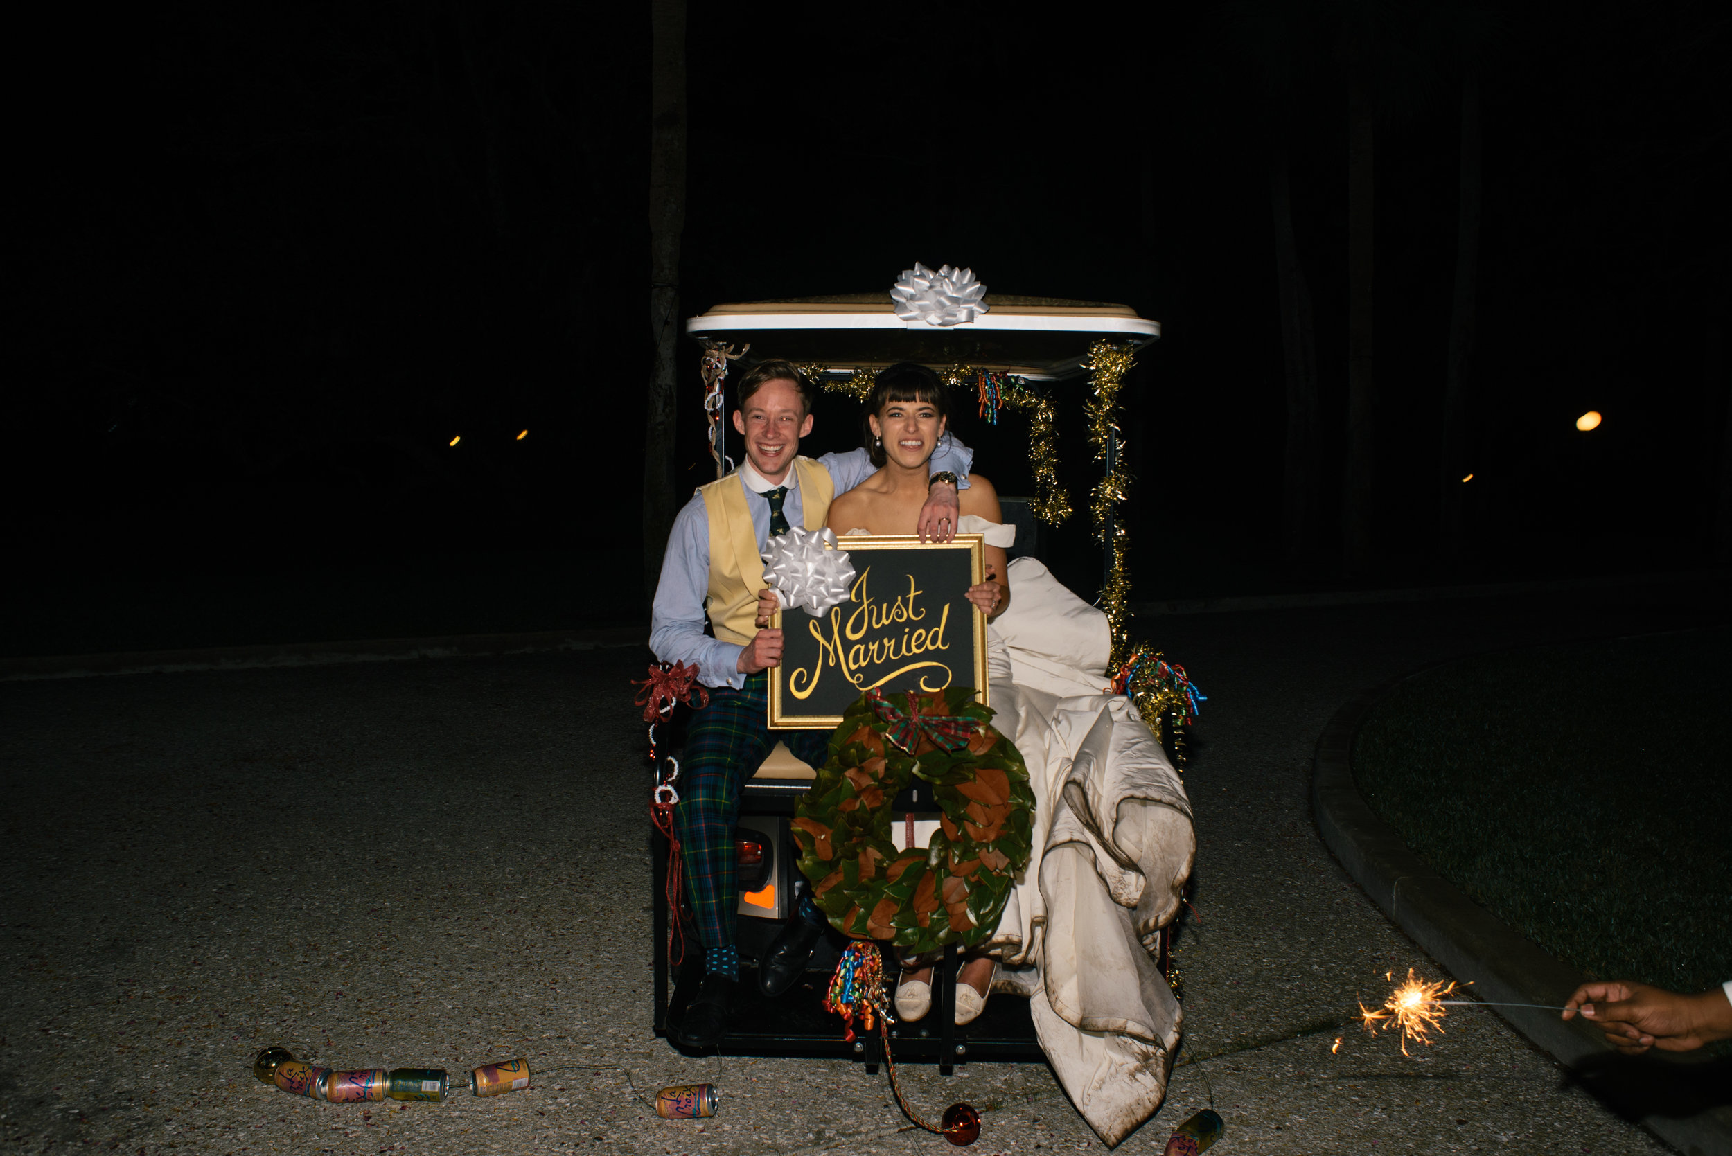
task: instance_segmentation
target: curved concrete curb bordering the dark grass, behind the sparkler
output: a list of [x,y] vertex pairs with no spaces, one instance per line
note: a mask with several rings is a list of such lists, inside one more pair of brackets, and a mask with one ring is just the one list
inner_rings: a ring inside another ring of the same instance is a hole
[[[1587,976],[1462,895],[1408,850],[1396,829],[1379,819],[1360,794],[1353,779],[1353,741],[1372,708],[1412,677],[1354,697],[1323,729],[1311,775],[1311,808],[1323,843],[1396,926],[1455,979],[1474,985],[1474,995],[1514,1004],[1562,1004]],[[1689,1082],[1690,1069],[1715,1063],[1659,1052],[1642,1059],[1623,1057],[1580,1018],[1564,1023],[1552,1011],[1493,1011],[1528,1042],[1578,1073],[1606,1071],[1607,1061],[1616,1059],[1626,1075],[1642,1069],[1637,1078],[1680,1083]],[[1645,1114],[1640,1123],[1690,1156],[1732,1156],[1732,1106],[1690,1116]]]

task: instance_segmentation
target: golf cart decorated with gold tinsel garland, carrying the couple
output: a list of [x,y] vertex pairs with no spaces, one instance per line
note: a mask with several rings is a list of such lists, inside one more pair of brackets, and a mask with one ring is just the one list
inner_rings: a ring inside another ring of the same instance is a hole
[[[726,452],[724,381],[734,358],[743,358],[741,363],[785,358],[800,365],[821,389],[856,398],[864,398],[875,370],[897,362],[921,362],[953,388],[979,393],[982,415],[994,422],[1001,408],[1029,414],[1036,493],[1003,497],[1001,505],[1005,521],[1017,524],[1017,545],[1010,557],[1043,557],[1048,540],[1044,526],[1057,524],[1069,514],[1051,472],[1057,457],[1051,443],[1053,405],[1070,393],[1067,384],[1076,379],[1095,386],[1093,396],[1100,405],[1100,350],[1122,356],[1122,365],[1128,367],[1134,350],[1159,337],[1159,324],[1121,305],[992,296],[984,298],[986,310],[979,305],[977,298],[972,310],[961,311],[961,320],[951,313],[939,322],[925,317],[911,320],[909,313],[914,310],[889,296],[719,305],[689,318],[686,334],[705,348],[705,412],[717,476],[733,466]],[[1119,374],[1122,376],[1122,369]],[[1110,386],[1115,393],[1117,377]],[[1089,391],[1079,388],[1074,395],[1082,401]],[[1107,481],[1112,481],[1119,466],[1110,396],[1105,398],[1103,429],[1108,441]],[[1124,557],[1122,549],[1114,549],[1112,509],[1108,504],[1108,521],[1096,530],[1107,543],[1103,602],[1117,630],[1124,620],[1122,588],[1128,583],[1114,580],[1115,575],[1122,576]],[[1114,590],[1119,600],[1115,618],[1110,604]],[[656,787],[679,789],[682,723],[688,713],[681,706],[672,718],[656,723]],[[861,1038],[845,1040],[842,1023],[823,1005],[830,976],[845,947],[840,934],[831,931],[819,941],[805,978],[785,995],[766,999],[752,979],[757,960],[769,950],[783,924],[797,917],[798,896],[809,886],[795,865],[798,850],[790,838],[790,824],[814,774],[778,742],[745,784],[734,846],[740,886],[738,947],[746,976],[721,1049],[760,1056],[850,1056],[876,1071],[882,1059],[880,1037],[868,1031]],[[892,803],[892,812],[901,808],[901,801]],[[662,831],[651,831],[650,853],[655,865],[655,1031],[672,1040],[679,1018],[701,981],[701,948],[689,912],[684,910],[686,896],[669,896],[669,841]],[[958,950],[953,945],[934,974],[932,1012],[920,1023],[890,1026],[895,1059],[934,1061],[944,1073],[954,1063],[968,1059],[1039,1059],[1041,1049],[1025,999],[994,997],[979,1019],[966,1026],[954,1024],[958,967]]]

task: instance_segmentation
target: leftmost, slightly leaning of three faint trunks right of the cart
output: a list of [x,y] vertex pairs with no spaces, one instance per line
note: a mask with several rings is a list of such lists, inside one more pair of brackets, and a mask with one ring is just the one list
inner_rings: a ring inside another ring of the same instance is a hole
[[1282,299],[1282,353],[1287,374],[1287,460],[1282,483],[1282,554],[1299,568],[1316,554],[1318,450],[1316,337],[1311,291],[1294,237],[1290,163],[1276,147],[1270,164],[1270,208],[1275,216],[1275,284]]

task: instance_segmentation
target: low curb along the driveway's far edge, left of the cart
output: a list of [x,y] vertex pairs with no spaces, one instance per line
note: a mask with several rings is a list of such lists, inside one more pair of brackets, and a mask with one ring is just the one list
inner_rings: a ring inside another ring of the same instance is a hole
[[95,675],[159,675],[192,670],[260,670],[267,666],[329,666],[334,663],[398,663],[412,658],[499,658],[539,651],[594,651],[648,645],[650,626],[594,626],[533,633],[466,633],[438,639],[357,639],[350,642],[289,642],[223,645],[196,651],[121,651],[116,654],[50,654],[0,658],[0,682],[90,678]]

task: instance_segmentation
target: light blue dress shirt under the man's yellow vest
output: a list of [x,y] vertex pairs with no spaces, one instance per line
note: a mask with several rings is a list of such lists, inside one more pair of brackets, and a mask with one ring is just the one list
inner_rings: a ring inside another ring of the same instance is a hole
[[[830,479],[837,486],[837,495],[843,495],[876,472],[866,450],[847,453],[826,453],[818,464],[830,471]],[[932,471],[947,469],[968,486],[968,467],[973,464],[973,450],[946,433],[939,438],[939,446],[932,453]],[[746,464],[750,466],[750,464]],[[741,471],[746,471],[746,466]],[[745,472],[745,478],[757,478],[757,471]],[[781,512],[790,526],[805,526],[805,507],[800,504],[798,478],[793,469],[781,479],[788,486],[788,497],[781,502]],[[769,542],[769,500],[745,486],[746,509],[752,511],[752,530],[757,533],[759,550]],[[703,509],[703,495],[695,493],[691,502],[674,517],[674,531],[667,536],[667,552],[662,556],[662,581],[656,583],[655,606],[650,614],[650,649],[663,663],[686,663],[698,666],[698,682],[707,687],[745,685],[746,677],[740,671],[740,651],[743,645],[722,642],[703,633],[703,599],[710,594],[710,517]]]

